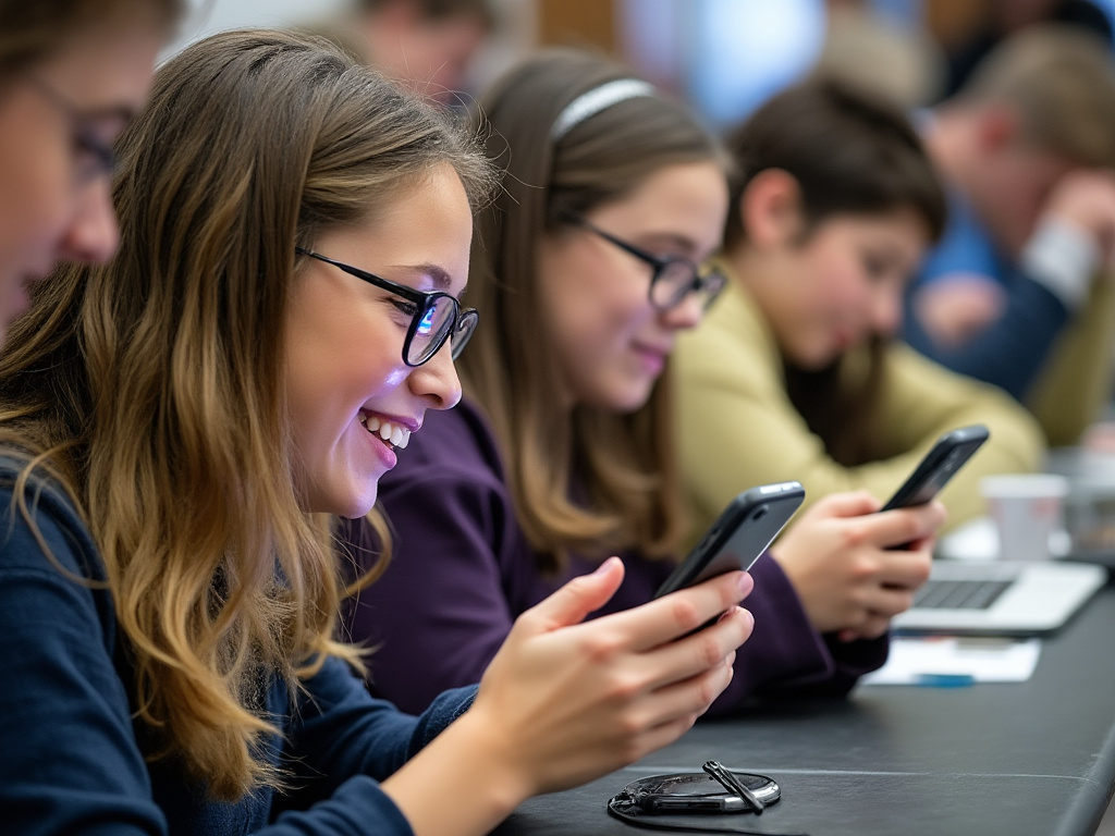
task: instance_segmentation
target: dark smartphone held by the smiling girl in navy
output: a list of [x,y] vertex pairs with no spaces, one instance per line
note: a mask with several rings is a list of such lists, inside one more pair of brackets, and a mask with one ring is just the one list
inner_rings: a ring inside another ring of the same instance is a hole
[[805,488],[799,482],[759,485],[739,494],[659,586],[655,597],[731,570],[750,568],[803,499]]

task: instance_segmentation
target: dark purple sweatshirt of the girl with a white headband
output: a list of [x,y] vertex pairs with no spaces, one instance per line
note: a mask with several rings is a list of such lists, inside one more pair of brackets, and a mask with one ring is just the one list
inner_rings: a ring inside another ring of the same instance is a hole
[[[574,556],[558,577],[543,575],[515,518],[496,440],[466,401],[427,412],[419,432],[380,479],[379,497],[394,527],[391,562],[350,602],[351,638],[375,648],[371,686],[405,711],[420,711],[447,688],[479,681],[512,622],[597,561]],[[342,536],[365,567],[376,537],[363,521]],[[651,599],[672,568],[634,553],[612,600],[593,613]],[[726,713],[755,694],[844,694],[886,659],[885,638],[842,643],[811,628],[787,577],[769,555],[752,568],[744,606],[755,631],[736,655],[736,673],[710,709]]]

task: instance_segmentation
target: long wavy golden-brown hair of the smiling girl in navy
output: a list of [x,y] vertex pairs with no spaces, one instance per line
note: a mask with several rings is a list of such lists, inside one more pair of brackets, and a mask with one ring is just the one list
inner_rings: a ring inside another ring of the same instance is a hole
[[261,682],[357,661],[331,638],[345,583],[330,519],[303,513],[293,478],[294,247],[434,167],[473,198],[491,175],[443,113],[264,31],[165,65],[118,152],[119,251],[38,285],[0,357],[0,446],[28,461],[25,483],[59,480],[89,526],[156,756],[237,798],[280,778],[259,756],[273,732]]

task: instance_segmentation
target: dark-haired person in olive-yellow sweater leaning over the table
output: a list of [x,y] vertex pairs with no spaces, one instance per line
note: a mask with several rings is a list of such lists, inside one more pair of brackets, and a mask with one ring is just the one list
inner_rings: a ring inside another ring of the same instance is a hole
[[[805,486],[802,527],[834,492],[860,492],[835,508],[870,519],[939,436],[969,424],[991,437],[940,498],[951,525],[981,514],[980,477],[1034,469],[1040,434],[1002,392],[895,339],[903,289],[946,216],[902,108],[811,80],[769,99],[728,148],[728,285],[676,349],[690,539],[739,485],[789,478]],[[799,590],[824,585],[833,562],[792,560],[792,535],[775,557]]]

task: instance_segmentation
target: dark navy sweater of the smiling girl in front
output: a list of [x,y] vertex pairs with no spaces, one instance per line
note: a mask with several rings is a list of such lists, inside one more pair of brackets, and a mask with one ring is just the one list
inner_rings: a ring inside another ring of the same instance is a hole
[[[18,511],[0,463],[0,827],[4,834],[410,834],[378,780],[472,703],[443,694],[421,717],[374,699],[329,660],[293,702],[265,689],[281,735],[270,758],[297,789],[214,801],[133,720],[134,679],[104,572],[71,505],[47,489],[36,519],[52,563]],[[68,576],[74,575],[74,576]]]

